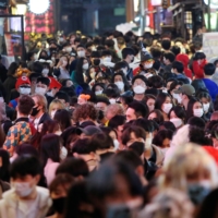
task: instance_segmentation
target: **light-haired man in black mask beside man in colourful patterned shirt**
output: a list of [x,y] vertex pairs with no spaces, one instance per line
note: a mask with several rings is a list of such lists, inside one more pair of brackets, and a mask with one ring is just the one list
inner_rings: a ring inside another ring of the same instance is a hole
[[38,130],[38,126],[41,125],[46,120],[51,120],[47,111],[47,99],[41,94],[34,94],[32,96],[35,106],[31,113],[32,123],[35,129]]

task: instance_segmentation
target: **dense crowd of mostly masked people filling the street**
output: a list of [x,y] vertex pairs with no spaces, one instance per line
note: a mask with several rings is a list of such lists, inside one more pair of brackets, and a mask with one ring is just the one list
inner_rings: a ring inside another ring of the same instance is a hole
[[0,218],[217,217],[217,95],[201,37],[73,33],[0,62]]

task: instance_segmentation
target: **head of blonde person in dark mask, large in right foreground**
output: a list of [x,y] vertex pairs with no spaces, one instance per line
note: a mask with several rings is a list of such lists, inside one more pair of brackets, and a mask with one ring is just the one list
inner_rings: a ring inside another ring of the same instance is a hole
[[[190,194],[198,204],[218,186],[218,169],[215,160],[196,144],[178,146],[173,156],[165,161],[159,187],[173,187]],[[195,192],[194,192],[195,191]]]

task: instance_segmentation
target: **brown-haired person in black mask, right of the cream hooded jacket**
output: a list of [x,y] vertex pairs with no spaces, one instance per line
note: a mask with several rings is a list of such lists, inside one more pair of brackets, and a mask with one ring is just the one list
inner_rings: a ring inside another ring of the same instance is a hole
[[58,174],[49,185],[50,197],[52,199],[52,208],[55,215],[49,218],[62,218],[64,205],[66,203],[68,191],[75,182],[75,179],[66,173]]

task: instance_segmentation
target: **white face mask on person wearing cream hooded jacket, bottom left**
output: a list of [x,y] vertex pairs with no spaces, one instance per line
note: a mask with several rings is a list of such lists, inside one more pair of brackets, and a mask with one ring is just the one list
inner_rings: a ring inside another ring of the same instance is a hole
[[13,182],[12,187],[20,197],[27,197],[34,191],[28,182]]

